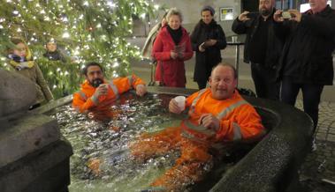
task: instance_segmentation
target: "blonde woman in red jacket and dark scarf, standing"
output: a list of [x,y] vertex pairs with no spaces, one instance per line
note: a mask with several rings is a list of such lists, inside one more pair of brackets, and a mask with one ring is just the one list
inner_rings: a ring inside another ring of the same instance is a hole
[[156,37],[152,56],[158,61],[156,80],[166,86],[185,87],[184,61],[193,56],[190,37],[181,26],[182,15],[172,8],[167,16],[168,25]]

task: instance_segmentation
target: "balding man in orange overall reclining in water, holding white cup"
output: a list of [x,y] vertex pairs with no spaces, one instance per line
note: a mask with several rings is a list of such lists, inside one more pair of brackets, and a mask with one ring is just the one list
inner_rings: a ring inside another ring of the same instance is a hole
[[[130,144],[134,158],[139,159],[174,149],[181,152],[175,166],[151,183],[152,191],[182,191],[207,174],[204,167],[213,162],[209,151],[229,142],[263,137],[261,117],[236,90],[237,74],[232,65],[219,63],[212,70],[209,85],[187,98],[189,117],[179,127],[142,135]],[[169,110],[174,114],[182,112],[173,99]]]

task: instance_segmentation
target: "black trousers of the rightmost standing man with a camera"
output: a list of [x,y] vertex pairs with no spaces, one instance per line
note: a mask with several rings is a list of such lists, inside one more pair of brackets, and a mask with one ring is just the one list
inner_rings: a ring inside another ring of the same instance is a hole
[[319,114],[319,103],[324,85],[296,84],[288,78],[283,78],[281,85],[281,100],[291,106],[295,105],[299,91],[302,91],[303,111],[308,114],[314,122],[316,130]]

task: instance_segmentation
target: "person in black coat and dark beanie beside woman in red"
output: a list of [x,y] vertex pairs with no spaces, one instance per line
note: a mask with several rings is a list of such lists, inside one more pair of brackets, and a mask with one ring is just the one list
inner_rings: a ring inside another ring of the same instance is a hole
[[227,46],[224,30],[213,19],[214,13],[212,7],[204,6],[202,19],[191,34],[192,48],[196,55],[194,81],[199,89],[206,87],[210,71],[222,60],[221,49]]

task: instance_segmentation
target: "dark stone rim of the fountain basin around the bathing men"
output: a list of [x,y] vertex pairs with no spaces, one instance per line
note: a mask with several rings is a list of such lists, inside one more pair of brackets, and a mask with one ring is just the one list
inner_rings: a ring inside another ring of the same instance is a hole
[[[189,95],[197,90],[149,86],[148,92]],[[295,191],[298,170],[310,151],[313,122],[301,110],[284,103],[245,97],[261,114],[269,129],[255,147],[216,183],[201,185],[197,191],[272,192]],[[47,113],[71,102],[72,96],[34,110]],[[210,186],[210,187],[208,187]]]

